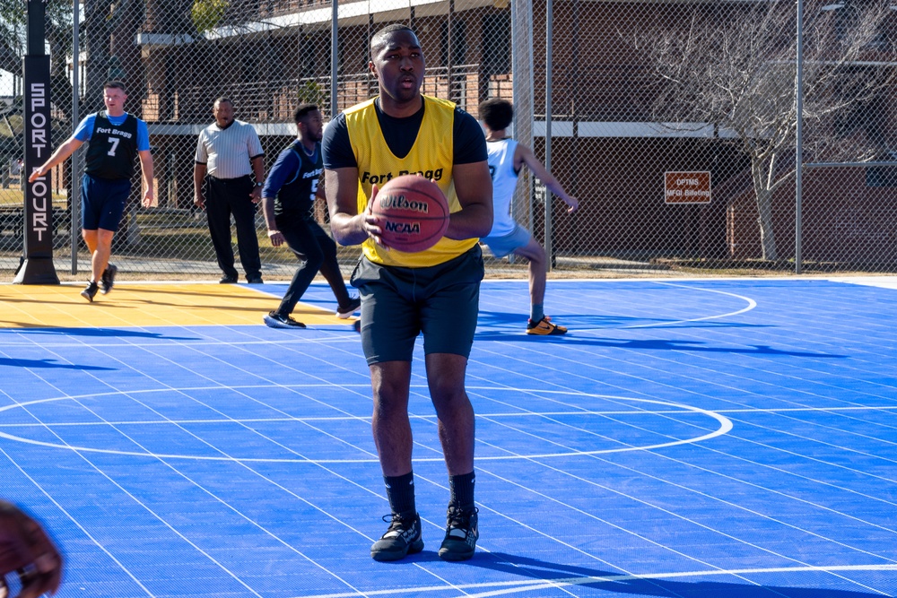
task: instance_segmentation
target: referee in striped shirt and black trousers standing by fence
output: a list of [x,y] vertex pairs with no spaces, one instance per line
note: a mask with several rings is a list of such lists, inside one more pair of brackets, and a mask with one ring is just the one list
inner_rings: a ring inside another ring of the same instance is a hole
[[[215,122],[205,127],[196,143],[193,167],[194,203],[205,208],[209,234],[218,266],[220,282],[237,282],[231,245],[231,214],[237,226],[239,263],[250,284],[262,282],[262,262],[258,256],[256,204],[265,185],[265,152],[253,126],[233,117],[233,102],[215,100]],[[205,182],[205,196],[203,184]]]

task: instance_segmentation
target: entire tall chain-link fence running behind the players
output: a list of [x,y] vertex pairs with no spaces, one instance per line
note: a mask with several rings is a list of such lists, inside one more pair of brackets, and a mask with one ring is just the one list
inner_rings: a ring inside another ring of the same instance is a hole
[[[514,136],[579,198],[568,214],[528,174],[518,185],[515,217],[557,275],[897,271],[889,1],[372,0],[338,14],[318,0],[83,0],[79,60],[68,56],[80,116],[102,107],[104,80],[122,78],[155,163],[158,204],[140,207],[135,178],[119,267],[216,277],[193,206],[196,136],[215,98],[256,126],[270,167],[300,102],[327,119],[376,93],[370,37],[404,22],[427,57],[423,91],[474,115],[488,98],[513,101]],[[55,99],[58,144],[73,130],[73,102],[65,91]],[[89,267],[83,244],[72,259],[65,220],[80,168],[54,178],[65,270]],[[260,213],[257,225],[266,279],[292,276],[295,258],[270,247]],[[14,228],[0,237],[4,268],[21,255]],[[341,248],[345,273],[357,255]],[[507,259],[487,264],[525,273]]]

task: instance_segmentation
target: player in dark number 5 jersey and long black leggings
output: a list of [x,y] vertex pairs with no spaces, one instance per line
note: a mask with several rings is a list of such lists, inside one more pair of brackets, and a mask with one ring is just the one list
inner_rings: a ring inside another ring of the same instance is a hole
[[324,199],[324,160],[321,137],[324,124],[313,104],[302,104],[295,112],[297,138],[283,150],[268,172],[262,189],[262,209],[271,245],[286,243],[300,259],[299,269],[280,307],[265,316],[272,328],[304,328],[290,316],[318,271],[324,275],[338,302],[336,316],[346,318],[361,306],[349,295],[336,260],[336,244],[315,221],[315,199]]

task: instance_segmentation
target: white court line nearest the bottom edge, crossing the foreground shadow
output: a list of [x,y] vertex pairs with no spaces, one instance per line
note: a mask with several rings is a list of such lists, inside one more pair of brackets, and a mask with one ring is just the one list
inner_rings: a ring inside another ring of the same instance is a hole
[[[485,598],[486,596],[497,596],[501,594],[522,594],[524,592],[533,592],[536,590],[544,590],[557,588],[562,585],[587,585],[614,582],[639,581],[640,579],[676,579],[682,577],[702,577],[702,576],[737,576],[737,575],[757,575],[764,573],[832,573],[833,571],[897,571],[897,565],[832,565],[827,567],[771,567],[771,568],[749,568],[749,569],[708,569],[705,571],[675,571],[670,573],[646,573],[643,575],[619,575],[619,576],[577,576],[577,577],[558,577],[555,579],[545,579],[540,582],[533,579],[520,581],[504,581],[481,584],[463,584],[455,585],[458,590],[476,590],[480,588],[495,588],[493,591],[480,594],[467,594],[466,598]],[[778,586],[783,587],[783,586]],[[801,586],[804,589],[806,586]],[[607,588],[613,590],[613,588]],[[787,589],[787,588],[785,588]],[[392,588],[389,590],[373,590],[366,591],[363,594],[354,592],[341,592],[337,594],[302,594],[297,598],[353,598],[354,596],[382,596],[397,594],[416,594],[419,592],[445,592],[448,588],[444,585],[431,585],[427,587],[407,587]],[[822,593],[823,590],[820,590]],[[883,595],[888,595],[884,594]],[[822,595],[822,594],[820,594]]]

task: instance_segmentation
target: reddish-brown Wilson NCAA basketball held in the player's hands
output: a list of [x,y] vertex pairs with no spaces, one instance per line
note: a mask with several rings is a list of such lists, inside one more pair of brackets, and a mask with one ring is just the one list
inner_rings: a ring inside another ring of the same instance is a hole
[[436,183],[417,175],[390,179],[371,212],[382,219],[383,243],[408,253],[433,247],[448,229],[446,196]]

